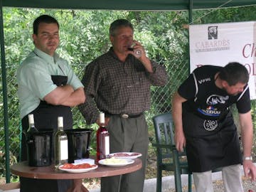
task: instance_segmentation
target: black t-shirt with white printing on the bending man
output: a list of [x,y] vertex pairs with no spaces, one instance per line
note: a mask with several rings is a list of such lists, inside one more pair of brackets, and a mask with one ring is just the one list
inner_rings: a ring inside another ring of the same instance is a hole
[[245,85],[238,95],[228,95],[215,85],[215,74],[222,67],[204,65],[196,68],[178,88],[178,94],[187,101],[183,110],[193,112],[204,119],[220,119],[228,113],[230,105],[236,104],[239,113],[250,110],[250,92]]

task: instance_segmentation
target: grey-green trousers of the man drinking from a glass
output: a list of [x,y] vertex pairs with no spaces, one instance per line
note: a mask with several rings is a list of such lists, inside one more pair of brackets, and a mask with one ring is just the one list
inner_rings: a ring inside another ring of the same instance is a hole
[[101,192],[142,192],[149,146],[148,127],[144,114],[128,119],[113,115],[110,117],[107,129],[110,133],[110,153],[121,151],[141,153],[142,169],[122,176],[101,178]]

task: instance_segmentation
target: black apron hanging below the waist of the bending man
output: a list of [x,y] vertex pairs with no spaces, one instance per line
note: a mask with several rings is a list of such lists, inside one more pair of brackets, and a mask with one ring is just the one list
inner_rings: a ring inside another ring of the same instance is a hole
[[238,132],[231,112],[222,119],[209,120],[183,111],[183,130],[190,171],[204,172],[242,164]]

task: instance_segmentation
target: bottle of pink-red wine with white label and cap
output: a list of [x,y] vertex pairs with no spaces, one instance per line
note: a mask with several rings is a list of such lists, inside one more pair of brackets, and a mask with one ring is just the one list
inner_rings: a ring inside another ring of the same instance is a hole
[[107,155],[110,154],[110,134],[105,127],[105,114],[100,112],[100,127],[97,129],[97,158],[106,159]]

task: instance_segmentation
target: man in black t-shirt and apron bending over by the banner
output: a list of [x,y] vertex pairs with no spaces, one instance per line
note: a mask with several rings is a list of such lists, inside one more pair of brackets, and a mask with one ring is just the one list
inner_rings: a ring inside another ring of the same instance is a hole
[[[197,192],[213,192],[211,170],[223,168],[227,192],[242,192],[240,164],[245,176],[256,179],[252,164],[252,118],[249,74],[240,63],[224,68],[205,65],[178,87],[172,101],[176,149],[186,146],[188,166]],[[240,119],[243,157],[230,106],[235,104]]]

